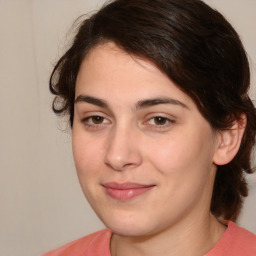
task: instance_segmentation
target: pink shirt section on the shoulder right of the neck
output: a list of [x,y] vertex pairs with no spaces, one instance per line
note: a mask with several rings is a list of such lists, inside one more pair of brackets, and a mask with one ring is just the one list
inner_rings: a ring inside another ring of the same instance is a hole
[[219,242],[205,256],[255,256],[256,235],[232,221],[228,221],[227,225]]

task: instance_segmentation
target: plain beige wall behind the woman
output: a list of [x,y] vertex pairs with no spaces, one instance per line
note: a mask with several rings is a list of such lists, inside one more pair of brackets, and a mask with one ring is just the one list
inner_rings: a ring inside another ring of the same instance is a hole
[[[256,99],[256,2],[208,0],[240,33]],[[75,173],[70,131],[51,112],[53,64],[99,0],[0,0],[0,256],[40,255],[103,228]],[[254,156],[255,158],[255,156]],[[256,233],[256,177],[239,224]]]

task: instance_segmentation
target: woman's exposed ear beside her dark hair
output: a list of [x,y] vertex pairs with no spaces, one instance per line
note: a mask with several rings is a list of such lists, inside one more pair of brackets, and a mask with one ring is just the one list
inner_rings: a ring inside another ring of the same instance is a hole
[[241,114],[231,128],[218,132],[217,149],[213,157],[216,165],[228,164],[235,157],[241,145],[246,122],[246,115]]

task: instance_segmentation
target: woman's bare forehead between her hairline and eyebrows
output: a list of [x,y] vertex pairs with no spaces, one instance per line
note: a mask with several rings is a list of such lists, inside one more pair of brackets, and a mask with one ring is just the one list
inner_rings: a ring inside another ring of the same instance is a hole
[[89,51],[78,73],[76,96],[81,93],[128,96],[134,91],[137,96],[142,93],[143,97],[174,95],[180,100],[191,101],[166,74],[145,58],[128,54],[114,43],[101,44]]

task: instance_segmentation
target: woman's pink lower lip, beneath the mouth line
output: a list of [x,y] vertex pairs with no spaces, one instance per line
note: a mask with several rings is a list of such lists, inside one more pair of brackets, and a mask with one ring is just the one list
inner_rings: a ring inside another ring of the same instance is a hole
[[107,195],[116,199],[116,200],[130,200],[137,196],[140,196],[147,191],[151,190],[154,186],[151,187],[141,187],[141,188],[128,188],[128,189],[115,189],[105,187]]

